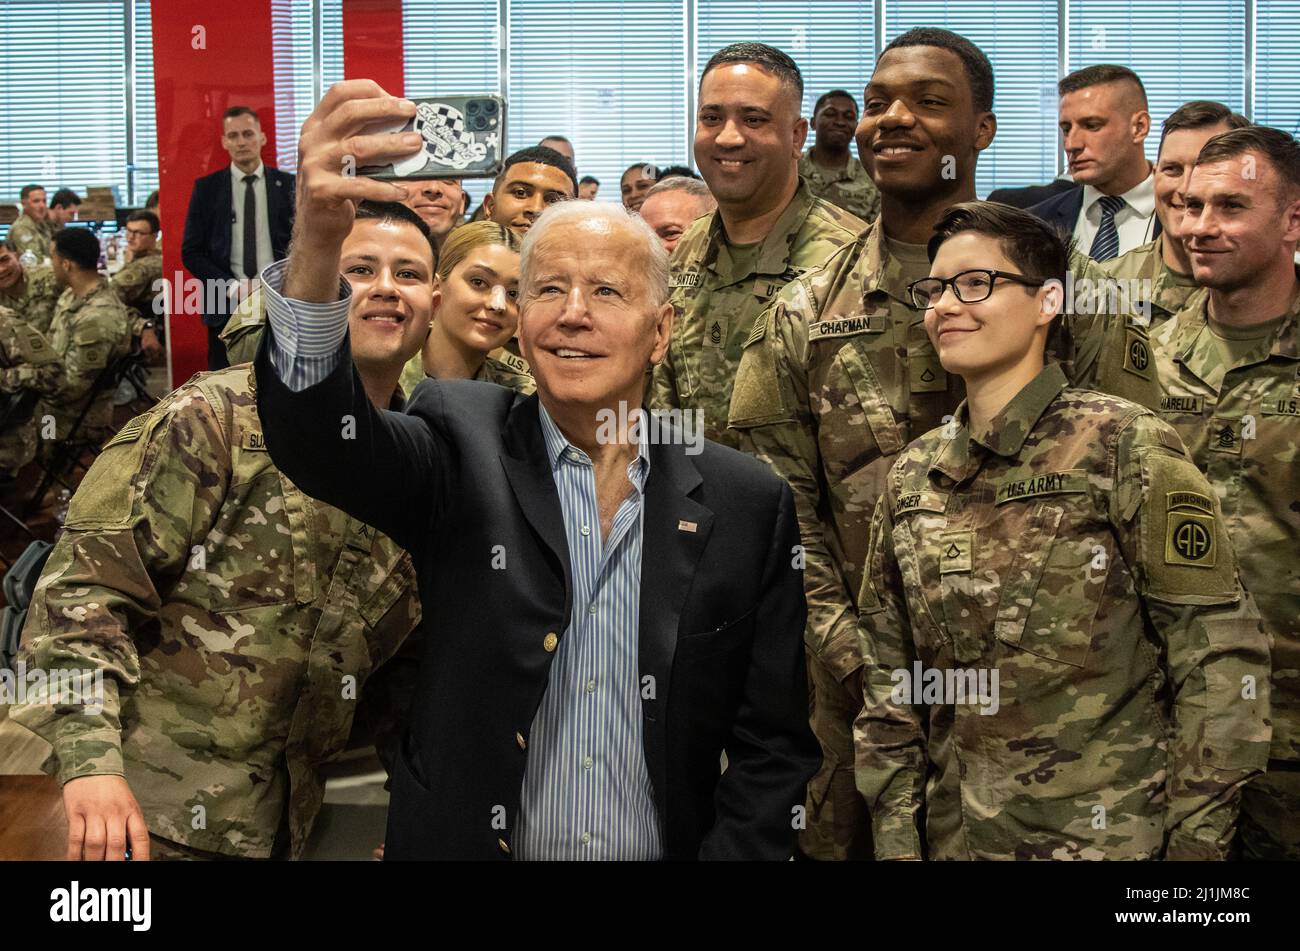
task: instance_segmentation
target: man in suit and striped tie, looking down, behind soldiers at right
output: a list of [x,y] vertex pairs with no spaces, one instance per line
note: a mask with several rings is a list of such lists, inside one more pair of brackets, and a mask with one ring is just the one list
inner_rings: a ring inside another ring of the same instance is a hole
[[1147,90],[1131,69],[1110,64],[1075,70],[1057,90],[1061,139],[1076,184],[1028,210],[1071,235],[1095,261],[1109,261],[1160,234],[1152,164],[1143,151],[1150,131]]

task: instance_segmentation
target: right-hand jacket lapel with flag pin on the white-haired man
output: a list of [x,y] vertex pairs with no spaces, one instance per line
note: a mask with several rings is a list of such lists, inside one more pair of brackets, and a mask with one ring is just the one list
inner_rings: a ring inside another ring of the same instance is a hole
[[677,650],[681,611],[708,543],[714,513],[690,498],[702,483],[681,446],[650,447],[645,529],[641,543],[641,676],[654,677],[654,698],[642,692],[645,751],[659,815],[666,816],[668,777],[666,703]]

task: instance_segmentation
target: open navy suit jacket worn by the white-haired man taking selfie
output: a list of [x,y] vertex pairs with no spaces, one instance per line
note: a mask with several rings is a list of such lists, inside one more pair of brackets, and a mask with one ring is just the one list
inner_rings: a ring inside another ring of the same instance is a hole
[[[406,412],[381,412],[350,349],[294,392],[270,366],[270,338],[268,327],[255,366],[272,460],[407,548],[420,581],[424,638],[385,857],[510,859],[529,731],[547,686],[563,689],[549,685],[550,665],[573,612],[538,398],[426,381]],[[343,417],[355,438],[339,438]],[[716,443],[696,456],[662,442],[649,452],[638,660],[664,857],[788,859],[822,760],[794,498]],[[491,821],[502,807],[506,828]]]

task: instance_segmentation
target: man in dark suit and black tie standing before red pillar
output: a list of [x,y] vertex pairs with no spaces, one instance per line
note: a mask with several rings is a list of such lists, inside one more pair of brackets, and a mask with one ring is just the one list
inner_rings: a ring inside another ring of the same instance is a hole
[[261,269],[289,252],[294,230],[294,177],[263,165],[257,113],[233,105],[221,126],[230,165],[195,179],[181,244],[185,266],[204,282],[209,370],[230,365],[218,334]]

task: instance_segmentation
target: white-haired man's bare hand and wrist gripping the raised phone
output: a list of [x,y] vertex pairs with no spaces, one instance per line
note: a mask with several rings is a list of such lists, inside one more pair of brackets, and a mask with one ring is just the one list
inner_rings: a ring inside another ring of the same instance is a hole
[[286,296],[334,300],[339,248],[352,230],[356,203],[406,197],[402,186],[359,177],[356,169],[404,158],[424,146],[419,133],[368,130],[412,116],[415,103],[390,96],[372,79],[350,79],[330,86],[307,117],[298,138],[298,207]]

